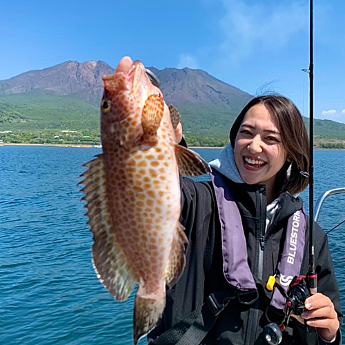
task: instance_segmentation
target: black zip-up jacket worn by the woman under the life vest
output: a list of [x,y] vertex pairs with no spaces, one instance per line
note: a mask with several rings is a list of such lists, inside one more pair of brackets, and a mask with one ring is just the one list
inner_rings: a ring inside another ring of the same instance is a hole
[[[265,311],[270,303],[271,293],[264,286],[268,277],[275,272],[282,253],[287,219],[302,208],[302,199],[293,198],[285,193],[282,208],[265,234],[265,187],[235,184],[230,180],[228,183],[242,215],[248,264],[257,282],[259,299],[252,306],[240,304],[237,299],[230,302],[201,344],[266,344],[262,338],[262,330],[268,324]],[[222,271],[221,230],[213,185],[210,181],[195,182],[182,179],[181,191],[181,223],[185,226],[189,239],[186,268],[177,284],[167,290],[163,318],[150,333],[149,339],[155,339],[204,304],[210,293],[228,288]],[[308,270],[308,248],[307,231],[302,275]],[[332,299],[342,322],[339,290],[328,241],[319,226],[315,226],[315,262],[318,291]],[[317,339],[315,328],[311,332],[306,332],[304,325],[291,318],[289,327],[284,332],[282,344],[311,345],[317,344]],[[333,344],[337,345],[339,341],[337,339]]]

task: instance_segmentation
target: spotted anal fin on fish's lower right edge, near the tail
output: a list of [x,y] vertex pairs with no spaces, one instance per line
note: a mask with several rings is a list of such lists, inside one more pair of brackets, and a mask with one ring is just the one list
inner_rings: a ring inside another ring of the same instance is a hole
[[177,231],[172,238],[170,257],[165,271],[166,284],[170,288],[177,282],[184,270],[186,264],[186,244],[188,244],[188,238],[186,233],[184,233],[184,226],[178,223]]

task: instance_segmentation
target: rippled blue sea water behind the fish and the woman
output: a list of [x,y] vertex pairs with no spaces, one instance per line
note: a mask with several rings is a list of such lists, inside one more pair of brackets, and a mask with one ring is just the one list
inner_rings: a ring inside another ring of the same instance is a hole
[[[197,151],[207,161],[219,153]],[[0,344],[132,344],[134,293],[119,303],[99,283],[77,186],[82,164],[99,152],[0,147]],[[317,150],[315,199],[344,186],[345,150]],[[344,210],[344,194],[329,197],[319,223],[330,230]],[[328,238],[345,309],[345,224]]]

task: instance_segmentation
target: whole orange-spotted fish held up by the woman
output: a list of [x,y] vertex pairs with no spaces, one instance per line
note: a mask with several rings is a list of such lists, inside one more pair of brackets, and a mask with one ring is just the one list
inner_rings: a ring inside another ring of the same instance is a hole
[[102,153],[84,164],[79,183],[97,277],[119,302],[138,284],[137,344],[160,321],[166,286],[184,270],[188,239],[179,222],[180,175],[202,175],[210,168],[176,143],[179,111],[166,105],[141,61],[121,59],[114,74],[103,76],[103,87]]

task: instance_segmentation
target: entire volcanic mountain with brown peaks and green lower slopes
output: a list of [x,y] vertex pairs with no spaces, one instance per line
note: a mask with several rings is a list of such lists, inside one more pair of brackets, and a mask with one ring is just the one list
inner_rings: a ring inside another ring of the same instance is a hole
[[[228,139],[235,117],[253,97],[204,70],[149,69],[161,81],[166,103],[181,112],[188,137]],[[70,60],[0,81],[0,130],[99,131],[101,78],[113,72],[104,61]],[[315,135],[344,140],[345,124],[315,119]]]

